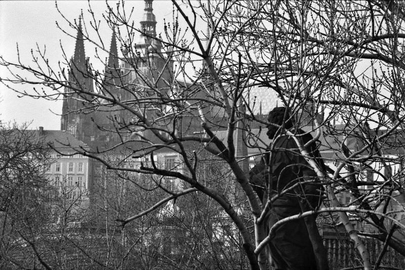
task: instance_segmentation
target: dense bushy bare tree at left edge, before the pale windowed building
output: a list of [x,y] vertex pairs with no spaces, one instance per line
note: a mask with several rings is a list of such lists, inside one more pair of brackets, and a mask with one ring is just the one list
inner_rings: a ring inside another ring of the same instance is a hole
[[[51,189],[45,168],[52,163],[50,149],[28,125],[0,122],[0,265],[23,266],[19,246],[27,244],[35,258],[34,243],[44,232]],[[32,248],[31,248],[32,247]],[[44,264],[46,266],[46,264]]]

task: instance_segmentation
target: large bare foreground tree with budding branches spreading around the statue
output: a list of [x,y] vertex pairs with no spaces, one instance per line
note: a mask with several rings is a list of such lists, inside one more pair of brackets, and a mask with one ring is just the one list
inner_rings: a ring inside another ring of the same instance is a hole
[[[36,67],[2,57],[1,64],[10,70],[2,83],[24,95],[81,104],[69,113],[89,115],[92,121],[86,123],[110,141],[107,147],[76,149],[78,153],[108,170],[153,175],[154,187],[165,191],[166,199],[120,218],[123,227],[172,199],[195,193],[208,196],[226,213],[252,269],[267,267],[265,247],[277,226],[322,213],[327,214],[321,215],[322,222],[335,227],[338,216],[365,269],[377,269],[386,248],[373,266],[364,236],[405,255],[394,233],[405,228],[398,218],[404,211],[403,2],[173,1],[173,7],[173,21],[166,21],[165,32],[156,35],[153,17],[138,28],[125,3],[107,4],[105,23],[114,31],[120,52],[90,38],[90,31],[98,31],[91,7],[91,22],[71,22],[97,52],[109,53],[111,61],[96,59],[106,66],[104,76],[89,63],[74,61],[67,76],[64,66],[55,67],[38,49]],[[151,14],[151,1],[146,1],[145,12]],[[208,31],[199,28],[202,24]],[[138,34],[141,40],[136,42]],[[63,57],[67,63],[68,57]],[[34,79],[23,78],[13,68],[31,72]],[[84,75],[93,80],[94,89],[84,87]],[[14,84],[42,84],[47,90],[21,92]],[[262,129],[272,124],[258,117],[260,97],[254,102],[253,88],[276,93],[280,105],[288,108],[294,129],[280,128],[278,137],[295,140],[296,152],[316,172],[328,197],[322,207],[282,219],[269,232],[264,217],[275,198],[259,200],[247,176],[247,153],[252,149],[252,155],[260,156],[286,149],[263,141]],[[308,154],[309,144],[303,143],[299,130],[313,134],[310,143],[318,142],[325,168]],[[244,146],[237,147],[241,142]],[[120,156],[123,160],[143,159],[139,168],[103,158],[116,149],[128,153]],[[165,151],[175,152],[181,162],[159,166],[158,153]],[[233,179],[238,196],[229,197],[229,190],[204,182],[197,167],[205,160],[226,164],[233,177],[221,180]],[[161,181],[165,177],[178,179],[186,188],[168,189]],[[350,201],[342,201],[348,195]],[[240,201],[246,202],[245,208],[239,207]],[[246,209],[252,227],[244,220]]]

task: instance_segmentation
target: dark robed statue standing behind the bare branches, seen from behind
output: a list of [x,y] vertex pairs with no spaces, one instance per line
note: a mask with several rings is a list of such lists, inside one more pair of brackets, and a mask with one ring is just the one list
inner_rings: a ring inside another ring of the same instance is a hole
[[[285,119],[287,121],[284,121]],[[271,161],[269,149],[261,162],[253,167],[249,174],[252,186],[262,202],[267,198],[279,195],[271,204],[267,216],[268,228],[271,228],[280,219],[316,208],[320,204],[322,187],[316,173],[301,155],[294,138],[286,135],[284,131],[290,130],[296,134],[303,144],[312,140],[313,137],[309,133],[305,134],[301,129],[293,128],[293,123],[284,107],[276,107],[271,110],[268,122],[281,126],[281,128],[268,127],[268,137],[275,139]],[[311,143],[306,149],[311,158],[323,168],[325,165],[320,159],[316,143]],[[305,183],[303,183],[304,181]],[[296,183],[300,184],[292,187]],[[292,188],[286,191],[289,187]],[[267,190],[269,190],[269,194]],[[283,191],[285,192],[283,193]],[[308,225],[308,222],[312,222],[312,224]],[[305,221],[302,218],[289,221],[275,230],[269,243],[269,249],[276,269],[317,269],[317,259],[307,227],[316,228],[314,217]],[[318,234],[319,237],[317,229],[313,230],[316,230],[315,234]]]

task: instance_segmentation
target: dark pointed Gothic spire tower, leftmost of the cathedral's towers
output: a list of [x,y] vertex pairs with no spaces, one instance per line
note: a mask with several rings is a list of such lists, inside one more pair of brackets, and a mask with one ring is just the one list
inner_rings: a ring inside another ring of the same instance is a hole
[[82,20],[79,18],[74,55],[69,63],[69,87],[64,89],[61,130],[82,141],[86,141],[92,132],[88,106],[94,92],[93,74],[89,58],[86,58],[84,40]]

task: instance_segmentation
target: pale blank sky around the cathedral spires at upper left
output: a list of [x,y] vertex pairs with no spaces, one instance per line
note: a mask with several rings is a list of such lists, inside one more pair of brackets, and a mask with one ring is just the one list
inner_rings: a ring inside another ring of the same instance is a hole
[[[113,3],[111,3],[113,4]],[[91,2],[92,9],[100,19],[101,14],[105,12],[104,1]],[[126,1],[128,10],[134,7],[134,20],[139,26],[139,20],[142,18],[144,1]],[[59,1],[58,7],[61,12],[70,20],[78,18],[80,10],[83,9],[84,17],[88,9],[87,1]],[[172,4],[170,1],[154,1],[153,13],[156,16],[156,31],[163,31],[163,18],[171,17]],[[50,61],[57,63],[62,60],[63,46],[65,53],[70,57],[73,55],[74,38],[67,36],[56,26],[56,21],[65,28],[69,29],[61,15],[57,12],[54,1],[0,1],[0,55],[9,61],[15,61],[19,45],[22,62],[32,63],[30,50],[35,49],[35,43],[41,48],[47,46],[47,57]],[[107,41],[109,46],[111,30],[106,27],[101,29],[102,38]],[[75,32],[70,30],[74,36]],[[94,57],[94,46],[85,43],[86,56],[91,59]],[[100,67],[103,68],[102,66]],[[0,68],[0,78],[8,76],[7,70]],[[20,86],[19,89],[23,89]],[[29,86],[28,86],[29,87]],[[43,126],[44,129],[60,129],[60,114],[62,111],[62,101],[47,101],[41,99],[32,99],[29,97],[17,97],[17,94],[0,85],[0,120],[2,122],[16,121],[17,123],[32,122],[31,129]],[[56,114],[55,114],[56,113]]]

